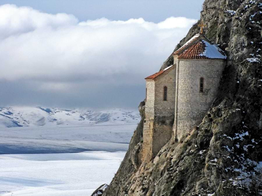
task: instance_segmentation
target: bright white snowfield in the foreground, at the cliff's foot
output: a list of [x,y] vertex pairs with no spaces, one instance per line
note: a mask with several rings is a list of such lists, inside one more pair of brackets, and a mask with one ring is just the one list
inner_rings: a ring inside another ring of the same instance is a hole
[[91,195],[109,184],[125,152],[0,155],[0,195]]

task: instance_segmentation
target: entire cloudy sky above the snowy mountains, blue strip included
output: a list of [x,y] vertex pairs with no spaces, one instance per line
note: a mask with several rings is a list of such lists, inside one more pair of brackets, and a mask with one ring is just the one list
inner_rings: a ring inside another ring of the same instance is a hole
[[0,106],[136,108],[203,0],[0,2]]

